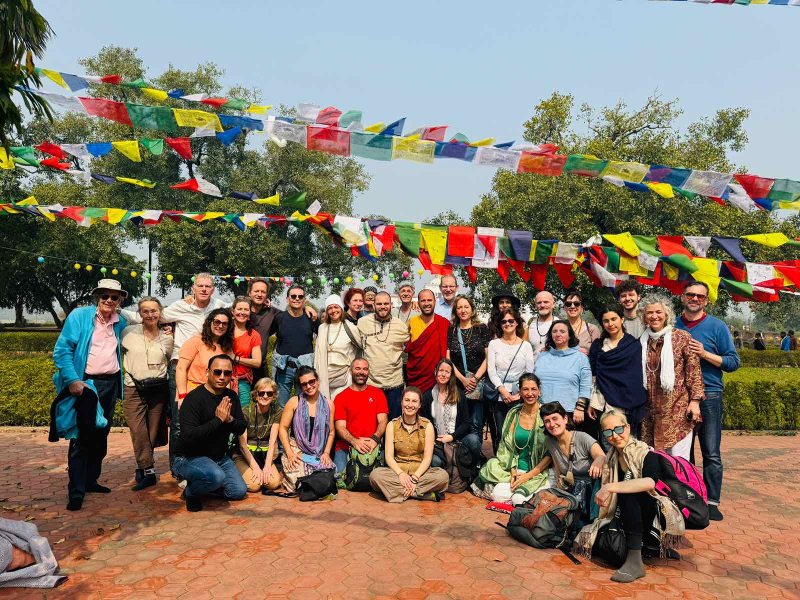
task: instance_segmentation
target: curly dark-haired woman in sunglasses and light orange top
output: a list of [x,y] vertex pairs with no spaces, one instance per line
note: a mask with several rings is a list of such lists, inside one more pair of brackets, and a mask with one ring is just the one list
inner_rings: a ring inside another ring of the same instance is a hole
[[202,324],[202,332],[186,340],[178,354],[175,388],[178,408],[183,398],[208,380],[209,360],[217,354],[234,354],[234,315],[229,309],[212,310]]

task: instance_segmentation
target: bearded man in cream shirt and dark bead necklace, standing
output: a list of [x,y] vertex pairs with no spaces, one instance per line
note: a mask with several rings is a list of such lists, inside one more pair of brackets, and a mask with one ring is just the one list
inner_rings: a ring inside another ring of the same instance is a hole
[[402,352],[411,334],[408,326],[392,317],[392,298],[387,292],[375,296],[375,312],[358,319],[364,358],[370,363],[370,386],[378,387],[386,396],[389,418],[399,417],[404,386]]

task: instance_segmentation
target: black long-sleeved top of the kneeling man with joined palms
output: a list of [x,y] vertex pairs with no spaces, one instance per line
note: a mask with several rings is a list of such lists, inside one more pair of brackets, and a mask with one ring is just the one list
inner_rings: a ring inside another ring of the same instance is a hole
[[[223,423],[216,410],[222,398],[230,400],[230,414],[233,422]],[[206,386],[191,390],[183,398],[178,414],[181,433],[175,454],[178,456],[206,456],[218,461],[228,450],[230,434],[242,435],[247,429],[247,419],[242,414],[239,397],[234,390],[222,390],[222,394],[211,394]]]

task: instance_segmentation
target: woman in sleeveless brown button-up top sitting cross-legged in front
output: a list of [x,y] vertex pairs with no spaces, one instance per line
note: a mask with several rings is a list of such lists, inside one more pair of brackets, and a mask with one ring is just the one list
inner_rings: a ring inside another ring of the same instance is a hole
[[434,457],[436,432],[430,421],[419,416],[422,392],[408,386],[402,391],[402,415],[386,428],[386,465],[373,469],[370,485],[389,502],[408,498],[434,500],[444,498],[450,478],[444,469],[430,466]]

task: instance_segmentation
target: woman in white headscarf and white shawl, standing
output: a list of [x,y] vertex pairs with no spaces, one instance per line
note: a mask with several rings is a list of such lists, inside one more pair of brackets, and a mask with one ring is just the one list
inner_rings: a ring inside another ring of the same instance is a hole
[[345,318],[342,298],[331,294],[325,301],[325,315],[314,348],[320,394],[333,401],[336,394],[350,386],[350,363],[360,352],[358,327]]

